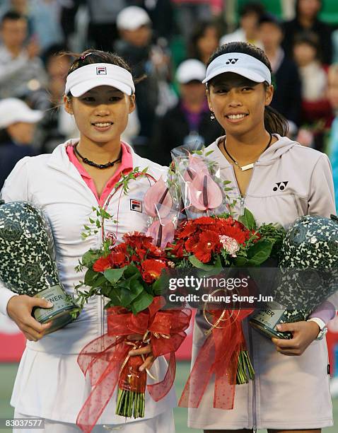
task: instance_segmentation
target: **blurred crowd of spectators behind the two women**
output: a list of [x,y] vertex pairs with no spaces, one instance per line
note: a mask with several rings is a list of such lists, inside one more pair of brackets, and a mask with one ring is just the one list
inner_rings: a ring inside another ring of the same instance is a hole
[[272,106],[289,137],[330,155],[338,190],[338,21],[320,20],[325,0],[293,1],[291,20],[269,3],[238,0],[231,28],[223,0],[0,0],[0,187],[18,159],[77,137],[62,107],[72,57],[60,52],[114,51],[146,74],[123,139],[168,164],[174,147],[223,134],[202,79],[218,45],[242,40],[267,54]]

